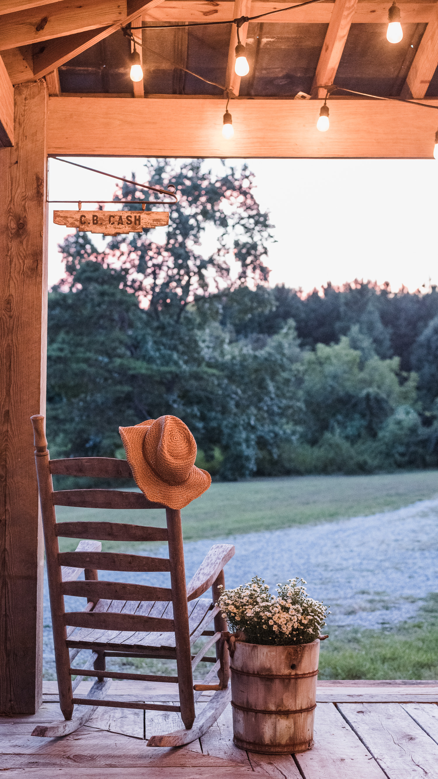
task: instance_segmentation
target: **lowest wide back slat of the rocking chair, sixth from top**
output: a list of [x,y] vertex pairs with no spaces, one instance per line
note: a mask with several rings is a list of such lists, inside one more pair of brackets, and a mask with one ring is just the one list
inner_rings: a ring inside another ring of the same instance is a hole
[[[94,630],[147,630],[151,633],[161,633],[162,631],[174,633],[175,622],[173,619],[163,619],[160,617],[143,617],[136,614],[112,614],[104,612],[95,614],[94,612],[66,612],[64,615],[65,625],[72,625],[78,628],[90,628]],[[74,634],[73,634],[74,635]],[[71,637],[74,643],[74,637]],[[70,645],[70,643],[69,643]]]

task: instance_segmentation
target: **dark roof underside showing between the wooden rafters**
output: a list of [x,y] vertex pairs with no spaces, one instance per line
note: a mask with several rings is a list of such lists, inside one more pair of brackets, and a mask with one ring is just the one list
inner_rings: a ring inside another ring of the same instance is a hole
[[[394,45],[387,41],[386,23],[352,23],[336,83],[351,90],[397,97],[426,26],[404,23],[403,40]],[[249,23],[249,75],[242,78],[240,96],[284,98],[300,91],[310,93],[327,27],[323,23]],[[221,96],[219,86],[196,79],[175,64],[224,86],[230,36],[231,25],[227,24],[143,30],[145,94]],[[59,67],[62,93],[132,96],[130,51],[130,41],[121,30],[83,51]],[[438,97],[438,69],[425,97]]]

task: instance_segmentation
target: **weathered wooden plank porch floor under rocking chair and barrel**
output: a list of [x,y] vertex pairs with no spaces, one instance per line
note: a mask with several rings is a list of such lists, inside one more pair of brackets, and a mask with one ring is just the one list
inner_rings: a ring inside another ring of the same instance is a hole
[[[111,698],[178,700],[172,685],[113,682]],[[87,693],[90,682],[78,687]],[[231,707],[200,740],[180,749],[145,738],[182,727],[178,714],[100,709],[64,738],[35,738],[62,719],[56,682],[30,717],[0,717],[0,770],[8,779],[438,779],[438,682],[319,682],[315,746],[301,755],[246,753],[232,742]],[[198,703],[197,706],[203,706]]]

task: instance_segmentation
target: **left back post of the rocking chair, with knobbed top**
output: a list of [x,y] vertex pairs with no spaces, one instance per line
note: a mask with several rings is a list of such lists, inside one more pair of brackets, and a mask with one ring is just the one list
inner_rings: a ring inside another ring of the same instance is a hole
[[62,714],[70,719],[73,711],[72,679],[70,676],[69,650],[65,643],[67,634],[64,622],[64,596],[62,594],[62,569],[58,565],[58,537],[55,533],[56,513],[53,504],[53,484],[49,467],[47,439],[44,433],[44,417],[36,414],[31,417],[34,428],[35,464],[37,466],[38,490],[40,492],[41,515],[43,520],[44,545],[50,594],[53,641],[55,644],[56,675],[58,677],[59,705]]

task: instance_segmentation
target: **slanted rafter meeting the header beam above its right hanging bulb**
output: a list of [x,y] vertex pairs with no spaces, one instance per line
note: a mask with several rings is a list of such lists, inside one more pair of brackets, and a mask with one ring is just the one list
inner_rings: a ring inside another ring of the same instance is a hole
[[355,15],[358,0],[335,0],[330,24],[324,39],[320,59],[316,66],[313,79],[312,96],[326,97],[327,90],[320,88],[321,84],[333,84],[337,67],[341,62],[345,41],[350,30],[351,21]]

